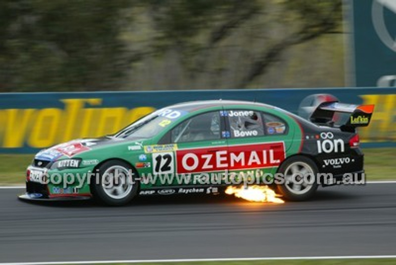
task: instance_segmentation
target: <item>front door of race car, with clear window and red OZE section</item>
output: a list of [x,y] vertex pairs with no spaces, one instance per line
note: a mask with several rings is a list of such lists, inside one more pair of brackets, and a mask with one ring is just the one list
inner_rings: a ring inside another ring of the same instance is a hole
[[[209,185],[208,176],[227,169],[224,127],[221,111],[213,110],[189,117],[169,131],[168,142],[175,146],[175,150],[159,155],[174,157],[172,185]],[[153,157],[155,173],[160,174],[163,169],[164,164],[158,164],[161,160]],[[190,181],[186,183],[186,180]],[[183,189],[178,192],[183,193],[180,191]]]

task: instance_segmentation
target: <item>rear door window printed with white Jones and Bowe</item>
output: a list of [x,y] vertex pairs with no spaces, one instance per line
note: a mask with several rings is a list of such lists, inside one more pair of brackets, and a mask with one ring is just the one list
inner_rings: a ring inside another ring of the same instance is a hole
[[264,135],[263,118],[253,110],[227,110],[231,137],[252,137]]

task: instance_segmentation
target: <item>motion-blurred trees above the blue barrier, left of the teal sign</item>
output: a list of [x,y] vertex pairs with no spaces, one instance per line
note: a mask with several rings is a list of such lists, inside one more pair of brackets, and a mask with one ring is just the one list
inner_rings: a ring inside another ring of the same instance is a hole
[[344,85],[341,0],[2,0],[0,91]]

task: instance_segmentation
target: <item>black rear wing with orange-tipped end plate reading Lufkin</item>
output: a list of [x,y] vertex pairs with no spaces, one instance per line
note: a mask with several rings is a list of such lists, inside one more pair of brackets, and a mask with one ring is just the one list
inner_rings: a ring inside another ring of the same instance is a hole
[[[365,127],[369,125],[371,115],[373,114],[374,105],[353,105],[339,103],[336,101],[323,102],[318,105],[310,116],[310,121],[319,125],[333,126],[338,123],[341,129],[346,131],[354,130],[356,127]],[[337,114],[345,114],[337,116]]]

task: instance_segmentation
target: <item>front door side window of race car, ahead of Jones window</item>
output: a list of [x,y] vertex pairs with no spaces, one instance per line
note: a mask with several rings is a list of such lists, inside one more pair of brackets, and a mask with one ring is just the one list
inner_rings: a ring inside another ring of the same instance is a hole
[[220,114],[207,112],[196,115],[177,125],[171,131],[172,143],[220,139]]

